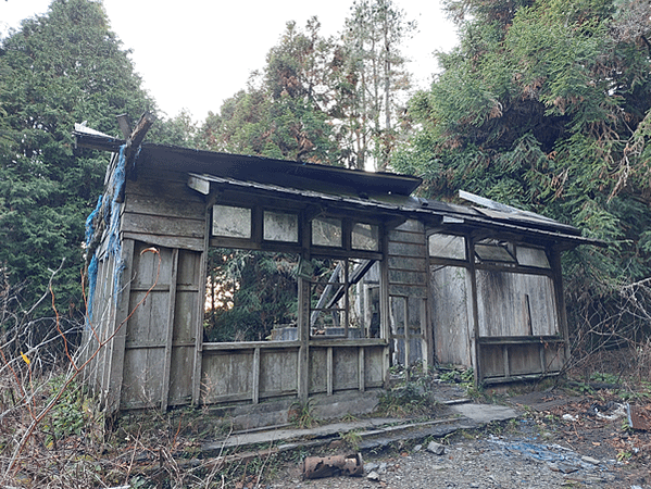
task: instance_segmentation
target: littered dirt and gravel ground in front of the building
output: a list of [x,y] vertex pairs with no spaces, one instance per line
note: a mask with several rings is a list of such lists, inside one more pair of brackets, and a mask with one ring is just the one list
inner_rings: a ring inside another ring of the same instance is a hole
[[518,418],[436,440],[445,444],[441,455],[428,451],[430,440],[424,440],[364,454],[364,477],[312,480],[302,479],[297,461],[287,461],[259,487],[651,488],[651,434],[631,429],[626,414],[629,402],[640,406],[641,421],[651,421],[650,400],[625,400],[610,390],[576,393],[502,399],[517,409]]

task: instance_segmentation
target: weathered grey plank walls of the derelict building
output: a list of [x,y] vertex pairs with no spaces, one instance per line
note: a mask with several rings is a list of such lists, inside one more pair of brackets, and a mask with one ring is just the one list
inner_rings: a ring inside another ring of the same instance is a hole
[[384,339],[203,343],[204,199],[181,179],[127,181],[125,267],[115,283],[115,256],[99,250],[95,330],[85,334],[87,358],[110,339],[87,376],[110,411],[379,388],[389,355],[393,364],[429,364],[434,346],[439,362],[477,363],[481,379],[548,373],[564,363],[555,275],[430,263],[425,226],[414,220],[384,238]]

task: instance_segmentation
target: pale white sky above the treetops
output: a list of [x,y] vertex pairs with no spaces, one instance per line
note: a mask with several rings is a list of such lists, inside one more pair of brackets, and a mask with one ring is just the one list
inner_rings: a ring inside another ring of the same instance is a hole
[[[21,21],[47,12],[51,0],[0,0],[0,36]],[[104,0],[111,29],[132,50],[145,88],[168,116],[186,109],[196,122],[246,88],[251,72],[265,64],[288,21],[299,27],[316,15],[322,35],[337,35],[353,0]],[[456,45],[454,26],[440,0],[393,0],[416,21],[402,49],[416,88],[427,88],[437,70],[433,52]]]

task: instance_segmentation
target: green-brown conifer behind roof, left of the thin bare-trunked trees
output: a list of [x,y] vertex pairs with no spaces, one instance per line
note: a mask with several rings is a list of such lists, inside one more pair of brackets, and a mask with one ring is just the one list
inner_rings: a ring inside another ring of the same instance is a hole
[[326,83],[331,41],[316,18],[304,30],[293,22],[246,90],[210,113],[199,131],[208,148],[314,163],[337,163],[328,122]]

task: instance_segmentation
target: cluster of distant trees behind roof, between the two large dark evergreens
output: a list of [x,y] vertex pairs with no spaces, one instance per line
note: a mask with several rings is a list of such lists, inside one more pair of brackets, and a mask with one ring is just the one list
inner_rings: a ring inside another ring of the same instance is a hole
[[413,28],[390,0],[360,1],[341,40],[313,17],[287,23],[248,87],[210,113],[197,141],[208,149],[364,170],[388,163],[400,95],[409,88],[400,54]]

